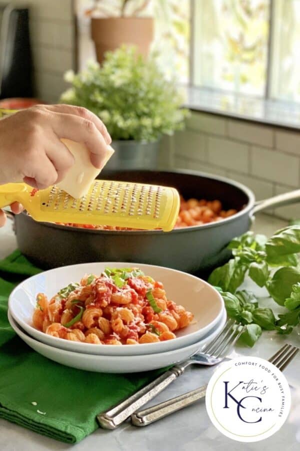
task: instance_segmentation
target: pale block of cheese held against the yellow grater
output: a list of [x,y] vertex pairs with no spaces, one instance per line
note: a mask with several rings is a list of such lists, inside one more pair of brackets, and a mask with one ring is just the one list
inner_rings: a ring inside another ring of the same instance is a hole
[[[91,183],[96,178],[100,170],[91,164],[89,151],[84,143],[71,141],[70,139],[65,138],[62,138],[61,142],[63,142],[63,144],[66,145],[72,153],[75,162],[67,171],[64,179],[57,183],[57,186],[70,194],[72,197],[78,199],[87,193]],[[107,163],[113,152],[114,150],[112,147],[107,145],[104,165]]]

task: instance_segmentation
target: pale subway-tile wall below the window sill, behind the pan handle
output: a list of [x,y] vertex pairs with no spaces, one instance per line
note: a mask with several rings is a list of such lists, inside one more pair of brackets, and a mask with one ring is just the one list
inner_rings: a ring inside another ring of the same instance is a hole
[[[161,150],[161,168],[224,175],[247,185],[257,200],[300,186],[300,130],[193,112],[186,130],[164,138]],[[300,203],[274,213],[300,218]]]

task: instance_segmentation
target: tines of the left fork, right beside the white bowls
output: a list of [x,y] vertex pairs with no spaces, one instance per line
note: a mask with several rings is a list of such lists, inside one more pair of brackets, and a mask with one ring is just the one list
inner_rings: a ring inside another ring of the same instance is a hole
[[224,329],[216,336],[212,343],[208,343],[201,353],[208,354],[213,357],[220,357],[221,354],[228,352],[242,332],[244,331],[244,326],[235,320],[229,319],[224,327]]

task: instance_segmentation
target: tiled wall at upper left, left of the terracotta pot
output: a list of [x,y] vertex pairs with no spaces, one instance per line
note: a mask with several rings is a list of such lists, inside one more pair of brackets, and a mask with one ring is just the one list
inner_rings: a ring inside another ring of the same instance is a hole
[[13,4],[29,8],[36,97],[55,103],[67,87],[63,73],[75,67],[73,2],[18,0]]

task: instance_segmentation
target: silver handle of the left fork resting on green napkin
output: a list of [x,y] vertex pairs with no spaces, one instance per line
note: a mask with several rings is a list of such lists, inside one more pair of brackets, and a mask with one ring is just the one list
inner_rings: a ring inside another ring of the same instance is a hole
[[154,398],[158,393],[164,390],[173,380],[180,376],[184,371],[183,366],[174,365],[165,373],[152,380],[145,387],[138,390],[129,398],[116,404],[110,410],[99,413],[97,415],[97,421],[104,429],[115,429],[123,421],[135,412],[138,408],[142,407],[150,399]]

